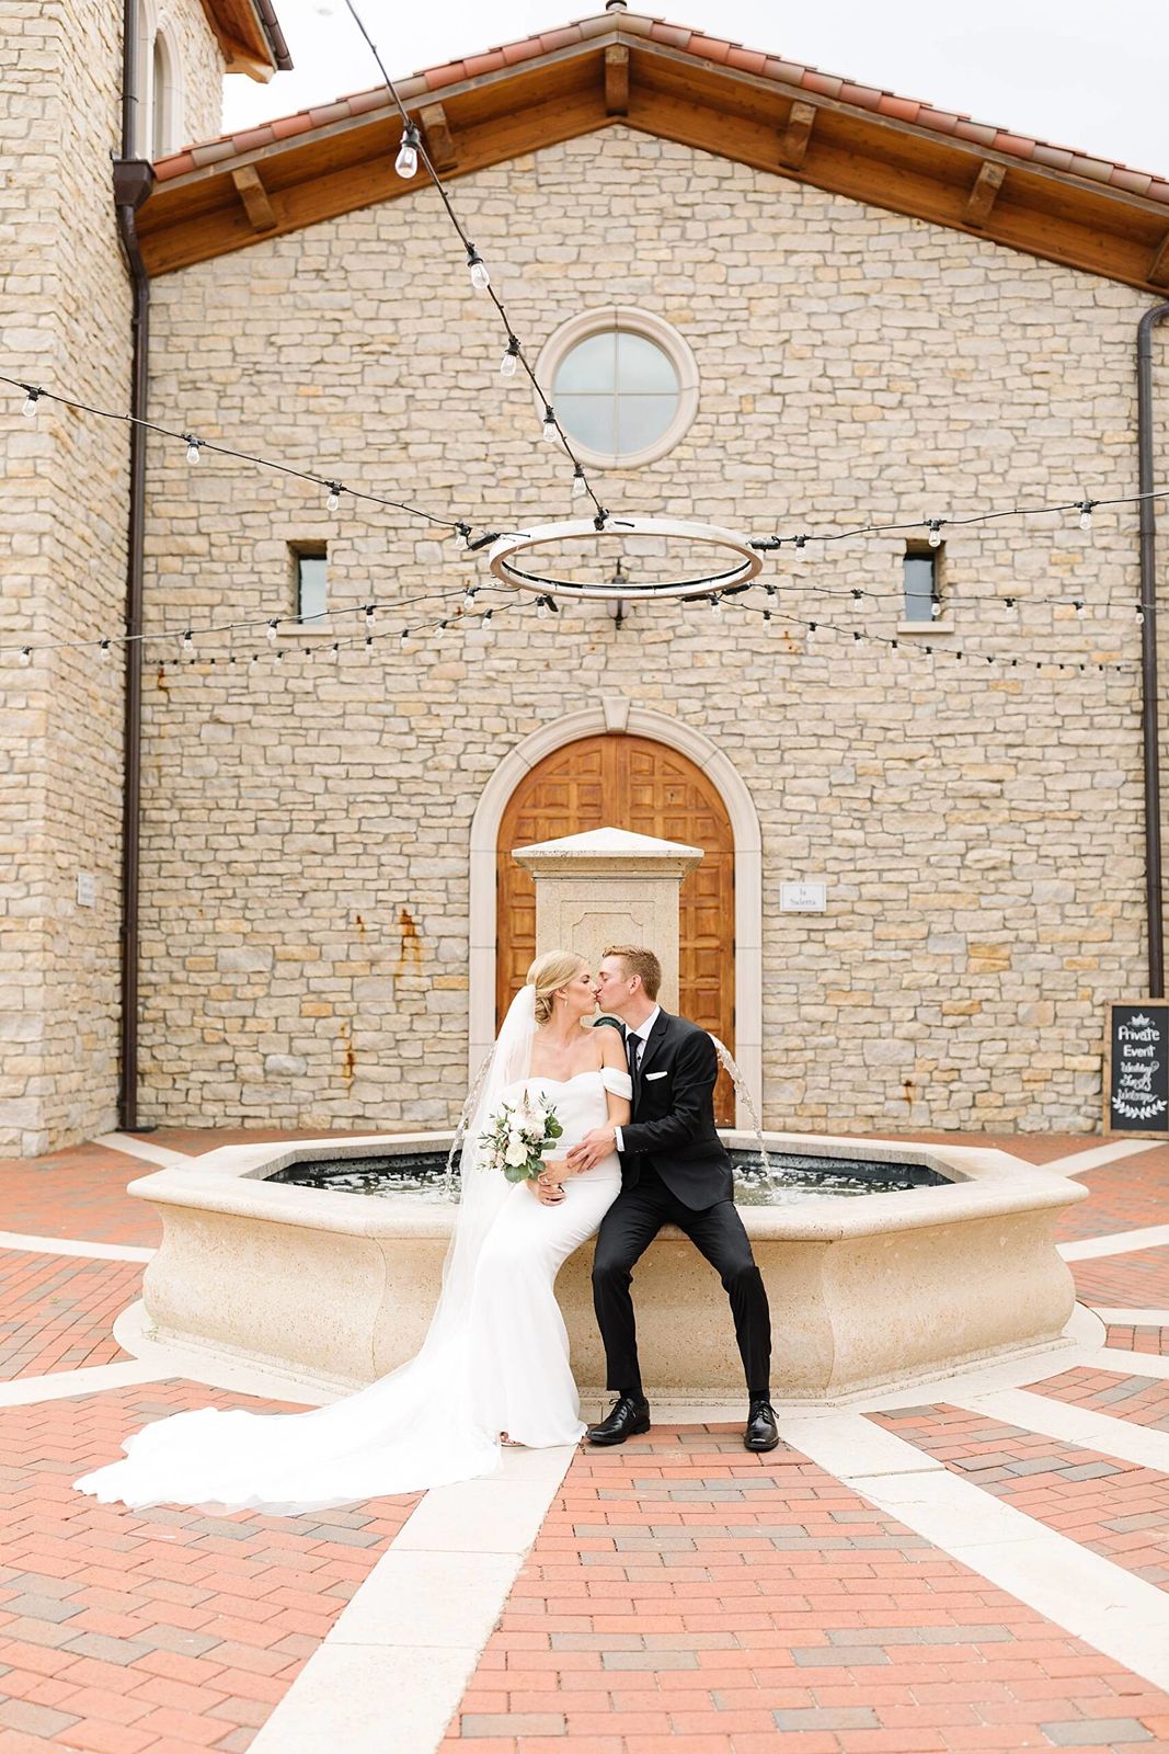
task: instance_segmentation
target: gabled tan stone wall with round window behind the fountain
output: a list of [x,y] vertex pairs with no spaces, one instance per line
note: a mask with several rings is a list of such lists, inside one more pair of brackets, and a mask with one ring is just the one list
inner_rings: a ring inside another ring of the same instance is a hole
[[[473,168],[456,198],[533,361],[605,307],[689,346],[685,433],[594,472],[617,516],[768,535],[1136,491],[1150,289],[619,118]],[[107,268],[121,298],[112,253]],[[258,235],[159,274],[152,298],[161,424],[475,530],[570,514],[564,460],[522,379],[501,382],[498,319],[431,193]],[[40,424],[21,437],[49,442]],[[112,467],[109,437],[93,442]],[[1157,454],[1164,479],[1164,417]],[[726,777],[736,1028],[761,1040],[769,1126],[1099,1128],[1104,1005],[1146,979],[1132,505],[1090,533],[1069,514],[952,523],[927,630],[903,626],[904,535],[783,549],[761,579],[776,595],[727,600],[720,621],[705,602],[634,603],[617,626],[596,603],[538,619],[417,517],[349,495],[333,514],[307,482],[207,453],[193,467],[174,440],[151,438],[147,482],[145,1117],[449,1123],[508,930],[475,881],[508,775],[636,730]],[[86,540],[116,553],[121,531]],[[305,551],[328,551],[331,617],[298,628]],[[75,624],[98,607],[77,602]],[[56,907],[51,928],[30,905],[18,930],[37,933],[21,942],[46,984],[84,988],[93,1045],[75,1098],[49,1098],[68,1003],[16,1037],[12,1065],[49,1080],[12,1080],[25,1149],[93,1130],[110,1094],[114,917],[75,924],[67,889],[77,816],[89,837],[107,823],[116,852],[116,691],[88,660],[58,663],[77,723],[110,726],[75,772],[60,745],[44,756]],[[30,686],[11,723],[37,747]],[[825,910],[783,910],[790,881],[825,884]]]

